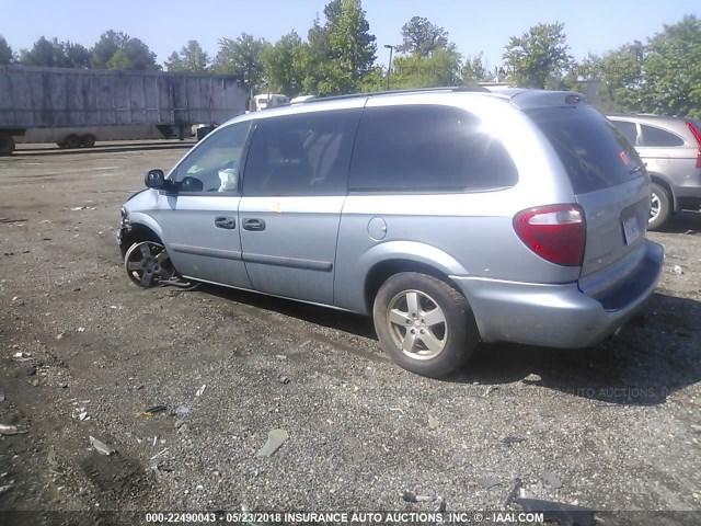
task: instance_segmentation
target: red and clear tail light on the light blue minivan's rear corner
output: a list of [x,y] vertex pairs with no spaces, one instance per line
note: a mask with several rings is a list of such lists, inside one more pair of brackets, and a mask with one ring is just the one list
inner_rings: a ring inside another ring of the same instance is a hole
[[563,266],[579,266],[587,226],[577,205],[529,208],[514,216],[514,230],[530,250]]

